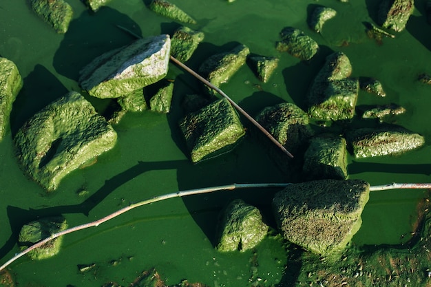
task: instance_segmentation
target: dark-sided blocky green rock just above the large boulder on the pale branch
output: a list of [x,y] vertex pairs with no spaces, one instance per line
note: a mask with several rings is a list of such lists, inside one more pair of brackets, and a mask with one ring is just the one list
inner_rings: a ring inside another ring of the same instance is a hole
[[302,168],[306,178],[345,180],[347,174],[346,140],[334,134],[311,138]]

